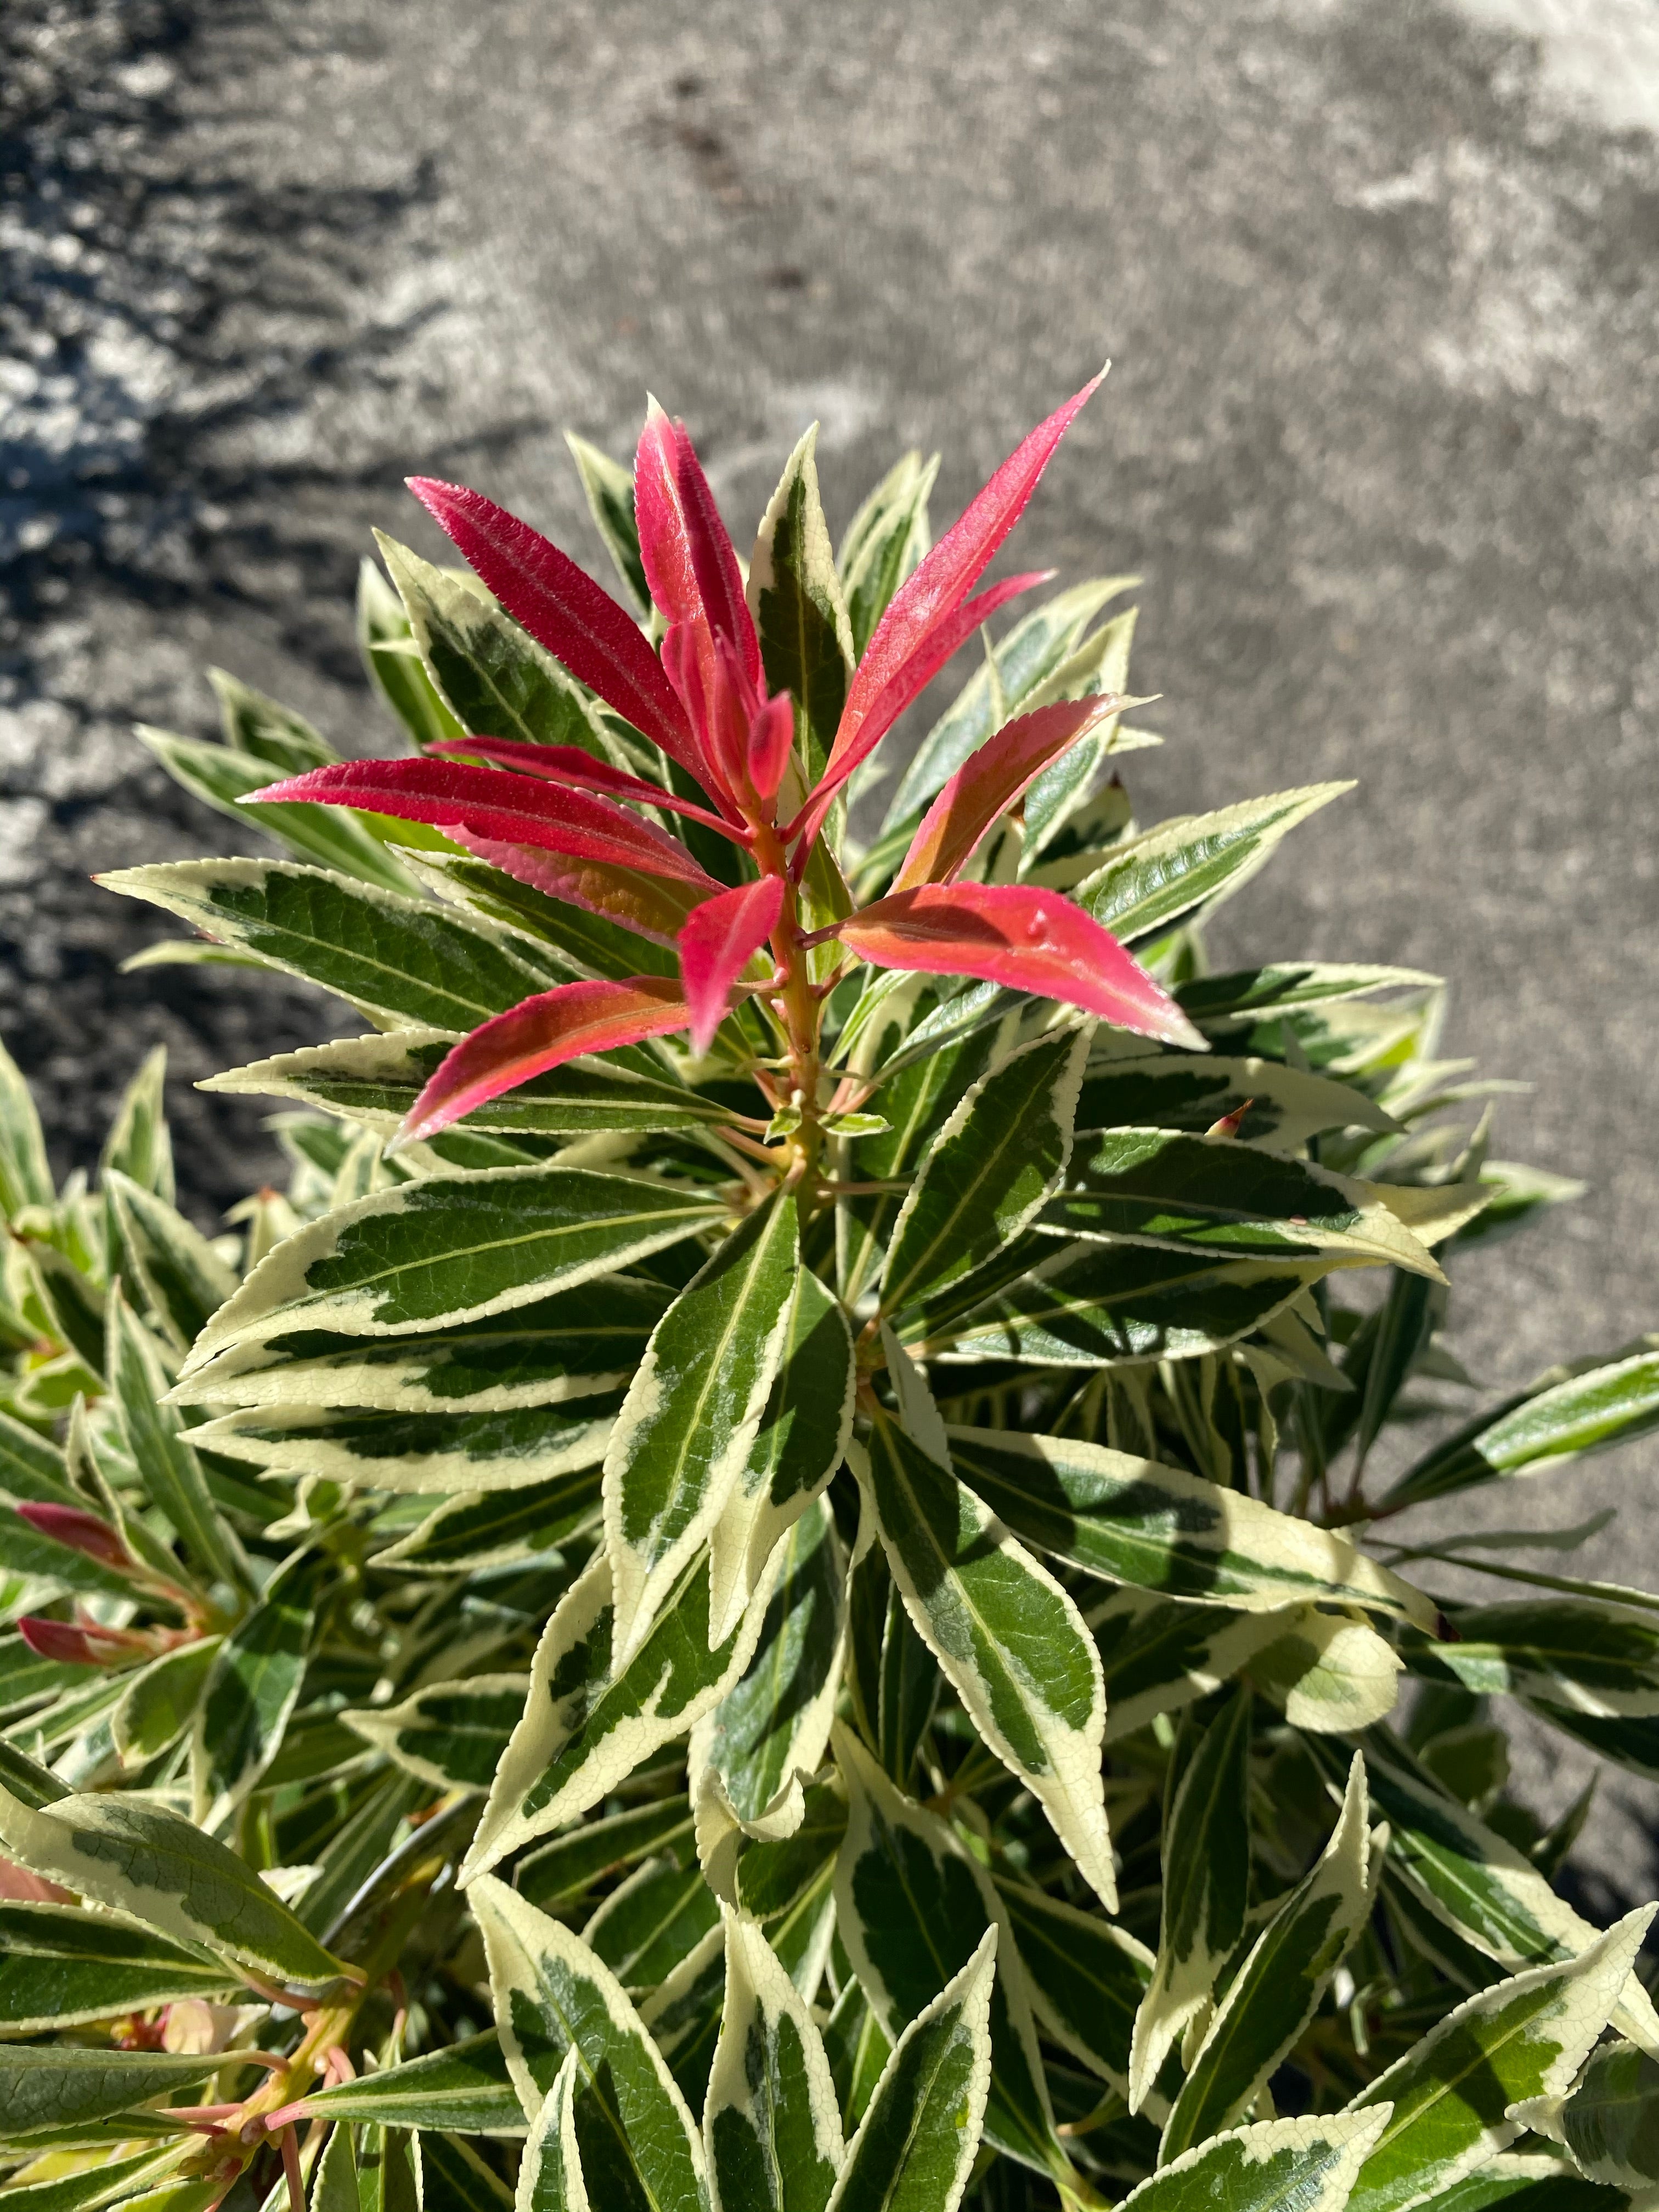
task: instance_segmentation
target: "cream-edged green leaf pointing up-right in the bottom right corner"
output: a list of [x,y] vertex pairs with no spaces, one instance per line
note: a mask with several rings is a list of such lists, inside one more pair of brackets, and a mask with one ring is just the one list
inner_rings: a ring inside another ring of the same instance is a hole
[[[1360,2168],[1352,2212],[1425,2203],[1506,2150],[1533,2099],[1564,2097],[1619,2002],[1650,1920],[1652,1907],[1628,1913],[1566,1966],[1535,1966],[1482,1989],[1360,2090],[1349,2112],[1383,2104],[1391,2117]],[[1626,2179],[1579,2163],[1599,2181]]]

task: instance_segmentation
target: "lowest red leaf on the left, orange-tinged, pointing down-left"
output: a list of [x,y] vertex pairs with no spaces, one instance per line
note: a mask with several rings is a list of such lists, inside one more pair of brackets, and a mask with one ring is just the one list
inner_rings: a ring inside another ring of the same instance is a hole
[[686,1000],[679,984],[664,975],[562,982],[557,991],[526,998],[462,1037],[409,1108],[398,1144],[436,1137],[473,1106],[582,1053],[611,1053],[684,1026]]

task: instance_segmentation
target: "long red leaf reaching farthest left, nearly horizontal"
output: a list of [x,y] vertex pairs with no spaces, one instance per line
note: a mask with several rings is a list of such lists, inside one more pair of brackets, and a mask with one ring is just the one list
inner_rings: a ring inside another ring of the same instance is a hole
[[653,830],[613,799],[551,787],[504,768],[469,768],[418,754],[407,761],[332,761],[285,783],[248,792],[250,801],[319,799],[341,807],[374,807],[434,830],[473,830],[511,845],[542,845],[613,867],[710,883],[679,838]]

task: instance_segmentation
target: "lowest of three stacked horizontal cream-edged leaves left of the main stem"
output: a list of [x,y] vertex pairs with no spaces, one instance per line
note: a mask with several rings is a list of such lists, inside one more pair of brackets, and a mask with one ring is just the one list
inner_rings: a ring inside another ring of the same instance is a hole
[[383,1491],[504,1491],[544,1484],[604,1458],[619,1391],[507,1413],[352,1413],[254,1407],[190,1433],[208,1451],[274,1473],[367,1482]]

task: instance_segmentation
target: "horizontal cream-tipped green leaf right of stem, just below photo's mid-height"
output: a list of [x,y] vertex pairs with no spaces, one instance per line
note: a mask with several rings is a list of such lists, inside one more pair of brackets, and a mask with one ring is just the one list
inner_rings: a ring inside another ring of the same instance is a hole
[[1433,1254],[1389,1208],[1391,1192],[1228,1137],[1113,1128],[1042,1208],[1048,1237],[1146,1243],[1237,1259],[1314,1250],[1349,1265],[1389,1261],[1436,1283]]

